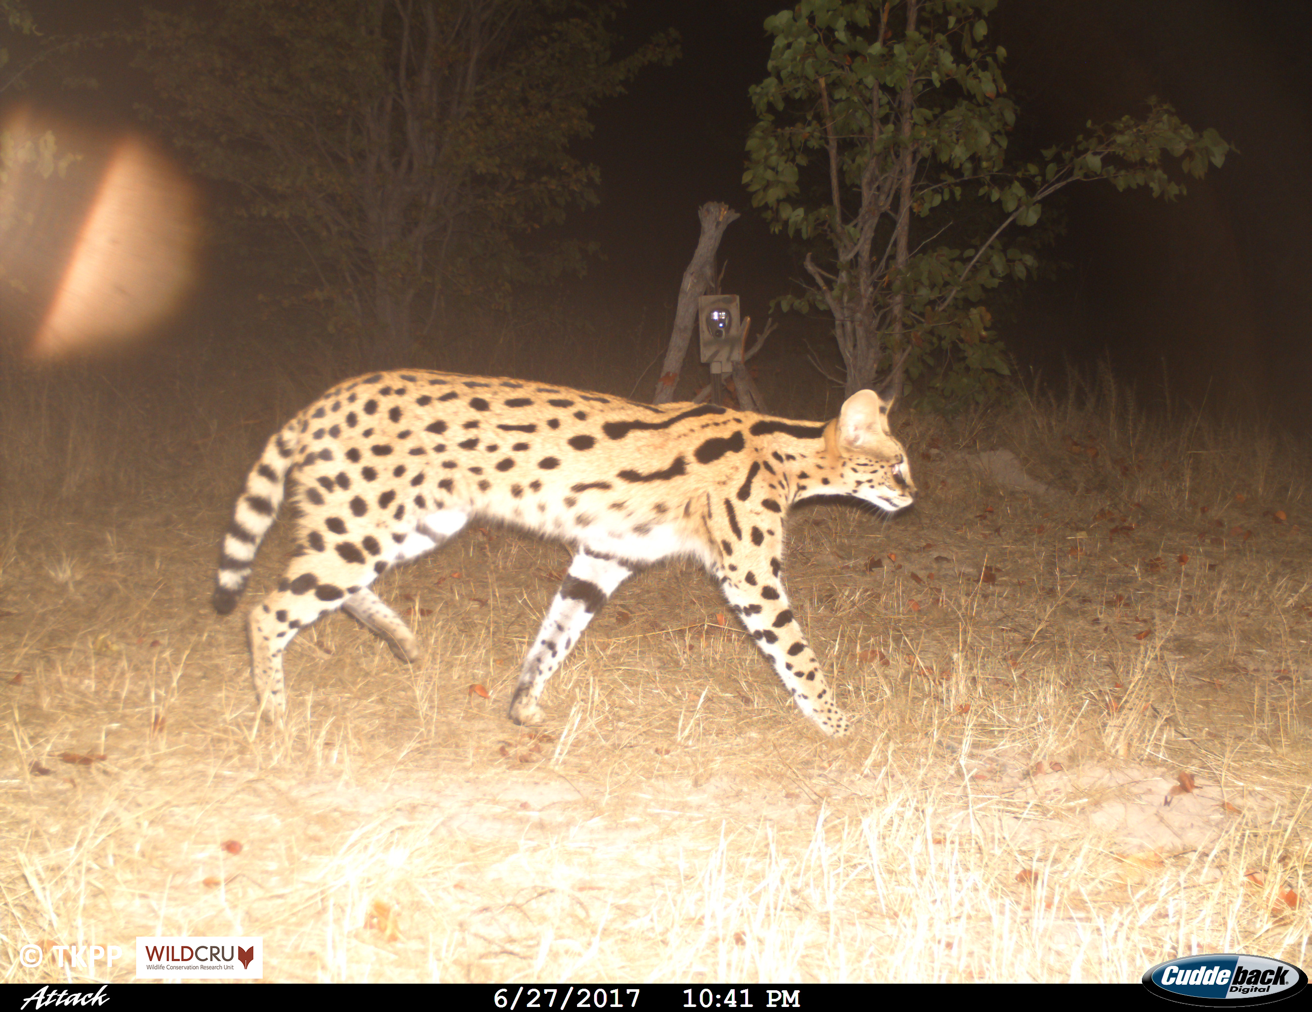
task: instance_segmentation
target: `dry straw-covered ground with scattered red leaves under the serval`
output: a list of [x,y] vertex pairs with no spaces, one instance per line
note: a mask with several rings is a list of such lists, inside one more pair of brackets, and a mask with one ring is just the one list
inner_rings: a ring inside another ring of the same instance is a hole
[[[262,936],[274,981],[1135,981],[1193,952],[1307,966],[1296,485],[1252,460],[1225,480],[1130,464],[1057,422],[1029,442],[901,435],[912,511],[790,524],[795,610],[859,717],[837,742],[690,565],[622,587],[548,684],[550,722],[513,726],[568,552],[501,528],[378,587],[420,663],[333,616],[287,654],[289,726],[257,728],[243,623],[209,608],[228,502],[12,514],[4,979],[130,981],[146,935]],[[975,456],[998,446],[1038,484]],[[35,969],[25,944],[49,950]],[[79,944],[125,957],[60,969],[51,946]]]

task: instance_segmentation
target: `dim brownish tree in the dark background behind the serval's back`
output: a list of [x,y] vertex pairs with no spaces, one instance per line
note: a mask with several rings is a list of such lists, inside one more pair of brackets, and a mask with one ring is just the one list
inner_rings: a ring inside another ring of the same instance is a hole
[[[218,0],[147,12],[136,64],[195,168],[295,229],[315,296],[403,362],[445,294],[495,290],[513,241],[594,202],[568,153],[659,35],[611,55],[614,0]],[[568,250],[559,252],[560,267]]]

